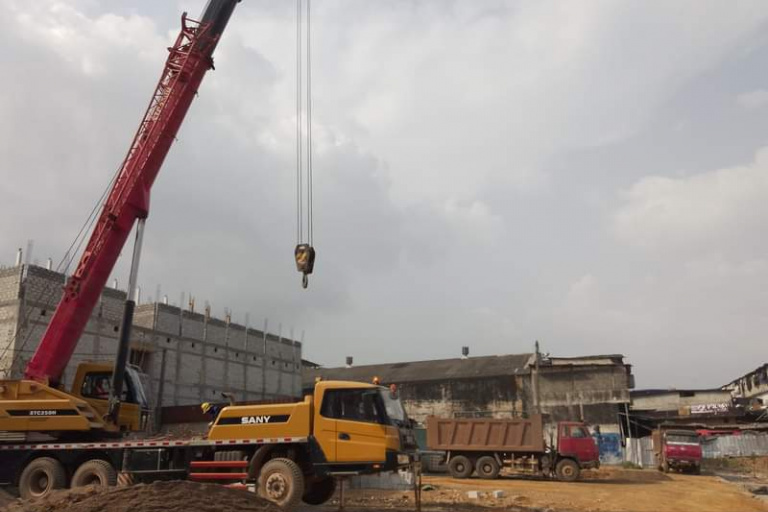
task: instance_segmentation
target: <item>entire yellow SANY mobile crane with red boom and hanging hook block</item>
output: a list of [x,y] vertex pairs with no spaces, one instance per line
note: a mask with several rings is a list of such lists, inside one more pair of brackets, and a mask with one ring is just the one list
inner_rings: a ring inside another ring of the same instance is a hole
[[[126,363],[149,191],[238,1],[209,0],[199,21],[182,16],[150,106],[25,378],[0,381],[0,484],[17,486],[22,497],[115,485],[121,473],[134,481],[243,485],[290,508],[325,502],[336,476],[409,463],[415,444],[402,404],[393,391],[367,383],[319,382],[297,403],[230,405],[205,438],[119,437],[141,427],[146,406],[140,376]],[[66,392],[63,370],[134,224],[116,361],[81,363]],[[306,286],[311,242],[299,240],[295,258]]]

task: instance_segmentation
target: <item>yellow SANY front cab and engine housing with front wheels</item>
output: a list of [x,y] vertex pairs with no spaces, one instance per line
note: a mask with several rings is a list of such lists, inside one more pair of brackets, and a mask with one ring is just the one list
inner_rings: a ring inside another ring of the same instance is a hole
[[263,443],[219,460],[239,461],[247,468],[246,480],[284,508],[299,501],[325,503],[335,491],[335,476],[398,469],[410,464],[416,448],[412,422],[396,393],[346,381],[317,382],[301,402],[224,407],[207,439]]

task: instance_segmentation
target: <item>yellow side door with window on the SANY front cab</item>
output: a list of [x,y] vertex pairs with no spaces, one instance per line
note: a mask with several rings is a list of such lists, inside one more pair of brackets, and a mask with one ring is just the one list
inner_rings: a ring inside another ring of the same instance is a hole
[[387,417],[378,390],[335,389],[325,395],[331,405],[323,416],[335,419],[336,462],[385,462]]

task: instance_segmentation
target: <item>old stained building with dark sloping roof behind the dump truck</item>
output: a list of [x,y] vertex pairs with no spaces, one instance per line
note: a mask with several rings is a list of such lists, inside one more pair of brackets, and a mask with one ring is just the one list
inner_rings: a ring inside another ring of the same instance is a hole
[[408,415],[519,417],[544,413],[546,421],[581,419],[618,431],[629,403],[630,365],[623,356],[556,358],[535,354],[462,357],[340,368],[305,368],[304,386],[317,377],[396,384]]

